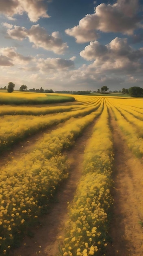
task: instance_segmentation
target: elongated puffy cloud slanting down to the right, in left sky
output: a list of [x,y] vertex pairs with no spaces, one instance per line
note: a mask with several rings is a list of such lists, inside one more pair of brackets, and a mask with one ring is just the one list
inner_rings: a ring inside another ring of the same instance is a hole
[[23,40],[28,38],[31,43],[34,43],[33,47],[53,51],[56,54],[63,54],[68,48],[67,43],[63,43],[60,38],[59,32],[54,31],[51,35],[39,25],[33,25],[30,29],[25,27],[14,26],[13,29],[7,29],[7,34],[10,38]]

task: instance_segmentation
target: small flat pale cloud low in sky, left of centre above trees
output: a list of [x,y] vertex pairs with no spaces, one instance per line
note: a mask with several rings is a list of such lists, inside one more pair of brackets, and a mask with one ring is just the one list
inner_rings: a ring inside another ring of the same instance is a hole
[[67,70],[74,67],[74,61],[63,58],[40,58],[37,60],[37,67],[42,72],[53,72],[54,70]]

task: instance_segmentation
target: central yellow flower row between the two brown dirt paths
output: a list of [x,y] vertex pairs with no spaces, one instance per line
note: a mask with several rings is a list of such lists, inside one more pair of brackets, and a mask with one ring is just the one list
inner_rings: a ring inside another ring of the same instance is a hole
[[[113,204],[112,182],[113,143],[104,104],[85,149],[82,178],[69,206],[69,220],[62,256],[102,255],[108,243],[108,212]],[[59,237],[60,243],[63,238]]]

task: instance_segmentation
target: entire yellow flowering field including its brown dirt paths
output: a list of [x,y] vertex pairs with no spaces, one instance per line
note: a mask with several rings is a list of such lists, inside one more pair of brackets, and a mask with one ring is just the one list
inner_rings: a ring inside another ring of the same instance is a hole
[[0,255],[143,255],[143,99],[74,98],[0,108]]

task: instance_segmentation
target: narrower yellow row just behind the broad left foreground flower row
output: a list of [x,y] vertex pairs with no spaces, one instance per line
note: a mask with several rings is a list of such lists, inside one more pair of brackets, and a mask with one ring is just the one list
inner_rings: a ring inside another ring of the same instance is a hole
[[80,117],[88,115],[102,106],[102,100],[97,101],[93,106],[84,109],[78,109],[70,112],[57,113],[53,115],[32,116],[15,115],[0,117],[0,152],[8,149],[21,139],[35,134],[39,130],[48,128],[54,124],[59,124],[71,117]]

